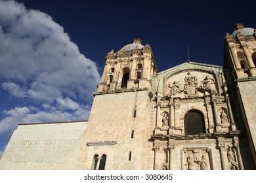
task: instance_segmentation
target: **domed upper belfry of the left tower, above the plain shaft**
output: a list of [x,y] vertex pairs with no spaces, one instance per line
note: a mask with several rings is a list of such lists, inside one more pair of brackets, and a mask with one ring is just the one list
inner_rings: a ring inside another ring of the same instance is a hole
[[98,92],[151,88],[150,78],[156,75],[157,67],[149,44],[143,46],[140,39],[134,39],[116,53],[111,50],[105,60]]

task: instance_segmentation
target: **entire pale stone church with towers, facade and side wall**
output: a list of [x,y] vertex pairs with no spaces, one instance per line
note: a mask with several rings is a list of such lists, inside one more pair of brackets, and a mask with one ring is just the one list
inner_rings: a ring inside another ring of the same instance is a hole
[[226,33],[223,66],[158,73],[140,39],[105,60],[89,120],[18,125],[0,169],[255,169],[255,29]]

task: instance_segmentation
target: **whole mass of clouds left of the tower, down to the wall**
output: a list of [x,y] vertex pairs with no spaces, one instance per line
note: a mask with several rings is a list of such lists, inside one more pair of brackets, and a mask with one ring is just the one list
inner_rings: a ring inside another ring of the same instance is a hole
[[96,63],[51,16],[0,0],[0,42],[0,90],[17,99],[0,114],[0,135],[22,123],[88,118],[100,82]]

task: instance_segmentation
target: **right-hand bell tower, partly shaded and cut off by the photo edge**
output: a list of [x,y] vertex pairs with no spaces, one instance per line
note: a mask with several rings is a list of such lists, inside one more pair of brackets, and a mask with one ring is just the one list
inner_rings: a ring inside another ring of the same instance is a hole
[[[256,34],[255,29],[236,24],[224,38],[224,71],[236,118],[245,126],[256,166]],[[240,114],[241,113],[241,114]]]

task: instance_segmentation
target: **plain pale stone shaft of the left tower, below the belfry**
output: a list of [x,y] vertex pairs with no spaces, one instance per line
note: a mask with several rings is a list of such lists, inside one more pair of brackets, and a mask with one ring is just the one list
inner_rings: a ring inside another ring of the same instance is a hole
[[91,169],[95,154],[106,154],[105,169],[146,169],[149,92],[127,91],[95,96],[78,169]]

